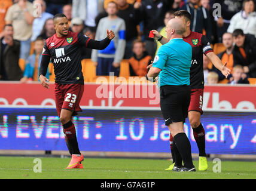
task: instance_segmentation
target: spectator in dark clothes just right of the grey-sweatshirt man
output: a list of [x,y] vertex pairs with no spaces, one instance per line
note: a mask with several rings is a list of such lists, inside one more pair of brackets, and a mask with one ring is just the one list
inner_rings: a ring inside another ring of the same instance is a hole
[[123,19],[126,23],[126,51],[124,59],[132,57],[132,44],[138,38],[137,25],[139,24],[138,10],[135,10],[133,5],[128,4],[126,0],[117,0],[118,13],[117,16]]

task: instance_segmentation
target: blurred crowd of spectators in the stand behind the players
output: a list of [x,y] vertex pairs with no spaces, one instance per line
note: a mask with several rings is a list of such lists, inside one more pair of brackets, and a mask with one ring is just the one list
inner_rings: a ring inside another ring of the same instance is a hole
[[[44,41],[54,35],[53,16],[63,13],[72,32],[92,39],[115,32],[102,51],[82,48],[82,66],[87,76],[145,76],[160,43],[150,38],[156,29],[166,36],[166,23],[177,10],[187,10],[191,30],[203,33],[214,52],[231,69],[228,79],[204,58],[205,84],[255,84],[256,0],[1,0],[0,80],[38,81]],[[215,3],[221,5],[216,14]],[[216,16],[215,16],[216,14]],[[122,66],[123,65],[123,66]],[[92,74],[93,73],[93,74]],[[47,78],[54,81],[52,64]]]

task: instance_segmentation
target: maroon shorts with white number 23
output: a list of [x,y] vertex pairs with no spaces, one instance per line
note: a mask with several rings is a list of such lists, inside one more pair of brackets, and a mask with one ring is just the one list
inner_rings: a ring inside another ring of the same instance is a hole
[[55,103],[57,113],[60,116],[62,109],[73,111],[72,115],[77,115],[82,109],[79,106],[84,93],[83,84],[57,84],[54,85]]

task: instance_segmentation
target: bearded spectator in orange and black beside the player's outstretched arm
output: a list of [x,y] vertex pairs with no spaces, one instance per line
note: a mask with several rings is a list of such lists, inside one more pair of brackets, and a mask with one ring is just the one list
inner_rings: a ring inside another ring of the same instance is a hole
[[[233,44],[233,36],[231,33],[224,33],[223,34],[223,45],[226,48],[226,50],[220,54],[217,54],[217,56],[221,59],[222,63],[225,64],[227,63],[228,69],[231,70],[230,74],[233,72],[233,65],[234,65],[234,59],[233,59],[233,49],[234,49],[234,44]],[[225,76],[219,72],[220,70],[216,69],[216,67],[212,66],[212,70],[214,72],[218,73],[219,75],[219,81],[225,79]],[[228,79],[230,78],[231,75],[228,76]]]

